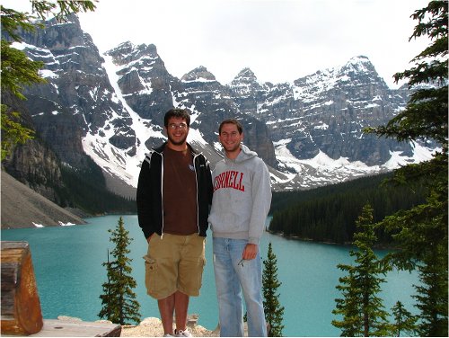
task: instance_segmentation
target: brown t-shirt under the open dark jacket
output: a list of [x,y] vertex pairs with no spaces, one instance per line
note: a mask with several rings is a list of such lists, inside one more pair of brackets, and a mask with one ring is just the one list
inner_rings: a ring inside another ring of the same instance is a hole
[[163,149],[163,232],[198,233],[197,181],[189,149]]

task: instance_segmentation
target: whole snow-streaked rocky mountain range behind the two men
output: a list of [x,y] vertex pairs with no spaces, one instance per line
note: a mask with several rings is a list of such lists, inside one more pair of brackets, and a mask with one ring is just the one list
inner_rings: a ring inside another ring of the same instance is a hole
[[433,150],[363,134],[403,110],[409,95],[389,89],[363,56],[294,83],[262,84],[250,68],[230,84],[217,82],[206,67],[179,79],[152,44],[123,42],[100,55],[75,15],[47,22],[13,47],[45,64],[48,83],[24,92],[40,136],[66,164],[82,166],[87,154],[130,187],[148,148],[165,139],[163,114],[172,107],[191,111],[188,140],[212,165],[222,156],[218,124],[242,120],[245,144],[269,165],[279,190],[391,170]]

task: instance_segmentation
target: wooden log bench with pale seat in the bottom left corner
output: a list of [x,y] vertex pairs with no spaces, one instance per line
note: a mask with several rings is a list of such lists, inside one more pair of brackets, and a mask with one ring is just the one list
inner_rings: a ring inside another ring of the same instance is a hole
[[1,334],[41,337],[119,337],[121,325],[43,319],[27,242],[1,244]]

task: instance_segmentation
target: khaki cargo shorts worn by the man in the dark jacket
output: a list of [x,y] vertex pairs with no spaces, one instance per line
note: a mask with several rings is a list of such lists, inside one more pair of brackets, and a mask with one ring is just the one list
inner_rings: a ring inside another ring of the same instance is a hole
[[198,296],[206,265],[206,237],[154,233],[145,259],[146,293],[163,299],[175,291]]

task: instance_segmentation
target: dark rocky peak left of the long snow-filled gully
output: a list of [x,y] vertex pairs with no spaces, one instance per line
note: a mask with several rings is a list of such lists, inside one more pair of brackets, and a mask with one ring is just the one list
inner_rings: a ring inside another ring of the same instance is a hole
[[24,91],[28,98],[25,105],[37,131],[61,160],[84,167],[82,138],[101,129],[115,128],[110,142],[128,147],[127,138],[133,138],[133,130],[123,126],[129,118],[112,97],[110,81],[101,66],[104,60],[91,37],[81,31],[76,16],[65,23],[52,20],[45,30],[24,35],[23,41],[26,53],[45,63],[41,75],[48,81]]

